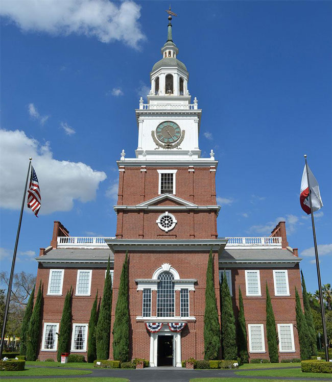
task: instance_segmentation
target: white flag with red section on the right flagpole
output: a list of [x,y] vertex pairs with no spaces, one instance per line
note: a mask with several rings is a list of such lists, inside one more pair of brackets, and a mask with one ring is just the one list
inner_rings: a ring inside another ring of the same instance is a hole
[[[323,207],[323,202],[322,202],[322,198],[320,197],[318,182],[314,174],[311,172],[311,169],[309,168],[309,166],[308,166],[308,173],[309,173],[309,183],[310,183],[310,189],[311,189],[311,202],[313,205],[313,211],[315,212],[320,210]],[[305,166],[304,166],[302,181],[301,181],[300,204],[304,212],[306,212],[308,215],[311,214],[310,200],[309,200],[309,187],[308,187],[308,181],[306,177]]]

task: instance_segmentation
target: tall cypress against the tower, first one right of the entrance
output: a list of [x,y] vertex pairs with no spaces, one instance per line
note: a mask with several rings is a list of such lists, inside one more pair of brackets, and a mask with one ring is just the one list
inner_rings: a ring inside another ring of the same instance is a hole
[[220,324],[216,301],[212,250],[206,269],[205,312],[204,312],[204,359],[217,360],[220,350]]

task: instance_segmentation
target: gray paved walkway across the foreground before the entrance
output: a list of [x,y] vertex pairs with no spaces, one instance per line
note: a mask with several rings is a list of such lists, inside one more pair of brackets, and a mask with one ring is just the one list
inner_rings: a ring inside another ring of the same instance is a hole
[[[31,367],[31,366],[30,366]],[[49,367],[48,367],[49,368]],[[66,368],[67,369],[67,368]],[[68,367],[71,370],[82,370],[79,368]],[[257,371],[257,370],[280,370],[280,369],[299,369],[299,367],[285,367],[285,368],[267,368],[267,369],[243,369],[242,371]],[[90,377],[122,377],[128,378],[130,382],[147,382],[147,381],[158,381],[158,382],[188,382],[192,378],[207,378],[207,377],[219,377],[219,378],[246,378],[250,379],[279,379],[280,381],[286,380],[311,380],[315,381],[314,378],[308,377],[264,377],[264,376],[248,376],[248,375],[236,375],[235,371],[240,371],[239,369],[206,369],[206,370],[193,370],[193,369],[181,369],[175,367],[149,367],[140,370],[124,370],[124,369],[84,369],[91,370],[91,374],[86,375],[56,375],[56,376],[10,376],[1,377],[2,380],[19,378],[21,380],[36,378],[36,379],[57,379],[57,378],[90,378]],[[326,378],[317,378],[319,381],[331,381],[331,378],[326,375]],[[69,381],[68,381],[69,382]]]

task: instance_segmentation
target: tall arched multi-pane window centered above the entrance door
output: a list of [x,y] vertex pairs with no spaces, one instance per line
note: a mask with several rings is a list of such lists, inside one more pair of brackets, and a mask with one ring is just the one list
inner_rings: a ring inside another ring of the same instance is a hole
[[157,317],[174,317],[174,276],[162,272],[158,276]]

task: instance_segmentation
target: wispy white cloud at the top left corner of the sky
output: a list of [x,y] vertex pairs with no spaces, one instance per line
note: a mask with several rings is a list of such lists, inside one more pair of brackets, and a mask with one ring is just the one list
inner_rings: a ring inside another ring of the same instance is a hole
[[23,32],[93,36],[102,42],[122,41],[134,48],[145,39],[138,22],[140,6],[132,1],[3,0],[1,14]]

